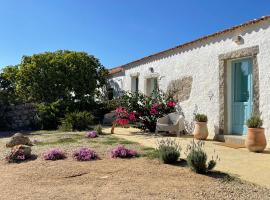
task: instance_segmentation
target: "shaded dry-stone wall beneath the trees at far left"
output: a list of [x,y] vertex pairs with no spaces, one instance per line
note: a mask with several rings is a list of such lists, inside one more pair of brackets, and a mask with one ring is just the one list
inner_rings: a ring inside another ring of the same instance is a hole
[[6,110],[8,129],[29,130],[33,128],[37,117],[37,110],[33,104],[11,105]]

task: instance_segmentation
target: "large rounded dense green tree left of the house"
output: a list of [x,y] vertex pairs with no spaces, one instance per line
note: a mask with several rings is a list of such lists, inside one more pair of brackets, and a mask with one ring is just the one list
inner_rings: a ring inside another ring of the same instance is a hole
[[88,104],[105,84],[106,74],[99,60],[84,52],[59,50],[24,56],[17,92],[27,102]]

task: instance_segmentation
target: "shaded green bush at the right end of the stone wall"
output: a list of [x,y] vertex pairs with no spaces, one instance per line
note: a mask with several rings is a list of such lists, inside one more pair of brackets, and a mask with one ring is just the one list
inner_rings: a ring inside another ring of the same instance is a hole
[[44,130],[57,129],[60,120],[64,117],[66,107],[60,100],[53,103],[36,104],[40,128]]

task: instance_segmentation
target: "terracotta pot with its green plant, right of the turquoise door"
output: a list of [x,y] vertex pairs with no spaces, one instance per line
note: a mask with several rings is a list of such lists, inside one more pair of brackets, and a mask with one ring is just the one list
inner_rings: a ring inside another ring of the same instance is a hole
[[262,128],[262,119],[258,116],[252,116],[247,120],[246,124],[248,126],[245,140],[246,147],[251,152],[263,152],[267,143],[264,128]]

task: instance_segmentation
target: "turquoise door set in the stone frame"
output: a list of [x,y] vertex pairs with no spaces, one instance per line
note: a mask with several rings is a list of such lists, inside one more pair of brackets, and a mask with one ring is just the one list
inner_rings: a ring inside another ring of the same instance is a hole
[[232,62],[232,133],[246,134],[252,114],[252,59]]

